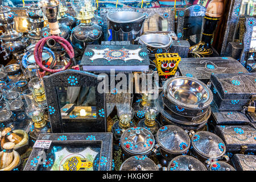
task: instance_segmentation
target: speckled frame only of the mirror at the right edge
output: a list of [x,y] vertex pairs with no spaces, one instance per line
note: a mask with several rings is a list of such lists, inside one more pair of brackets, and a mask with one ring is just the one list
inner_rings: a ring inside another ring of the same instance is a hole
[[253,27],[256,26],[256,16],[245,16],[245,35],[243,36],[243,50],[240,57],[240,63],[245,65],[245,53],[250,50],[251,36],[253,34]]

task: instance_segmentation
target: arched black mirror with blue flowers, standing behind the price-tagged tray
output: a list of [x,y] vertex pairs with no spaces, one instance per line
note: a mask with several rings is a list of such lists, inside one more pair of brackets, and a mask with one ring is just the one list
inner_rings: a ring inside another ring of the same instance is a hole
[[105,94],[98,92],[103,78],[75,70],[43,77],[52,133],[106,131]]

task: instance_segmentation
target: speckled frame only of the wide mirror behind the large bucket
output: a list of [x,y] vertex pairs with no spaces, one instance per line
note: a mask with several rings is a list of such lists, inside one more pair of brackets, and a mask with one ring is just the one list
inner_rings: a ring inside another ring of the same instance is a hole
[[[155,14],[159,14],[162,16],[162,18],[167,19],[168,22],[168,28],[167,31],[174,31],[175,30],[175,25],[174,25],[174,8],[169,8],[169,7],[157,7],[157,8],[105,8],[102,7],[100,9],[100,15],[101,18],[103,19],[103,31],[104,31],[104,39],[108,40],[108,19],[106,18],[107,14],[109,12],[115,12],[115,11],[136,11],[139,13],[146,14],[146,19],[151,18],[151,16]],[[145,20],[146,22],[146,20]]]

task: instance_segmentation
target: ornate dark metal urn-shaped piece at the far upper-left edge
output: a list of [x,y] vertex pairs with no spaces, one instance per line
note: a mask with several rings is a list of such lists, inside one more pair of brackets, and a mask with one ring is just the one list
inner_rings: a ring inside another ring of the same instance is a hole
[[5,32],[0,36],[0,41],[2,42],[1,48],[2,52],[6,55],[3,59],[7,59],[10,55],[13,55],[14,59],[21,60],[24,51],[24,39],[22,32],[16,32],[13,28],[14,24],[14,14],[7,7],[0,7],[0,26],[5,28]]

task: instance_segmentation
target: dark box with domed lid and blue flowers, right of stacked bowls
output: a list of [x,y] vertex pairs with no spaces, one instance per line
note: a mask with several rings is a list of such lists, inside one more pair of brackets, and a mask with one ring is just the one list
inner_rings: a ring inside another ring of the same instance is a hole
[[256,95],[256,73],[214,74],[210,81],[218,110],[241,111]]

